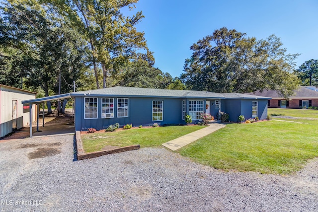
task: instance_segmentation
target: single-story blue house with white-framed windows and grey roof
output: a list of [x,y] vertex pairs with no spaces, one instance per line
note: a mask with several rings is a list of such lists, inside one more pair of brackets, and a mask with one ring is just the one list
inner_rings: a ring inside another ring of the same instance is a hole
[[154,123],[185,124],[185,115],[193,122],[201,120],[201,113],[218,118],[220,111],[237,121],[267,116],[268,97],[238,93],[212,93],[193,90],[167,90],[136,87],[110,87],[71,93],[75,98],[76,131],[120,126],[151,126]]

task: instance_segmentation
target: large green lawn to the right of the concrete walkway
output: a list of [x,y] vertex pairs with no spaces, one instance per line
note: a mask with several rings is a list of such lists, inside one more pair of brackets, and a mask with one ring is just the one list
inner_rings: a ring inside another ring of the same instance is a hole
[[230,124],[179,153],[217,169],[291,174],[318,156],[317,123]]

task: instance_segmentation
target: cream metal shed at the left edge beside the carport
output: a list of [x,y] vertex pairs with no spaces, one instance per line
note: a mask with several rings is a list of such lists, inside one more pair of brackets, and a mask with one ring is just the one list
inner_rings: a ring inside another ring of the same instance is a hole
[[[29,104],[23,105],[22,101],[35,99],[35,96],[34,92],[0,84],[0,137],[29,125]],[[33,111],[35,114],[35,108]]]

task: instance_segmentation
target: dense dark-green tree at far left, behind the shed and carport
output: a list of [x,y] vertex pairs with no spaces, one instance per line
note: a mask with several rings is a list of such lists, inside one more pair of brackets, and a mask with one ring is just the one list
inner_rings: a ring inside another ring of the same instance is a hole
[[[58,93],[60,73],[79,78],[85,69],[85,45],[52,7],[36,0],[9,0],[0,9],[0,47],[21,54],[11,58],[26,86],[41,86],[48,96]],[[64,83],[62,90],[70,91]],[[50,113],[49,102],[48,108]]]

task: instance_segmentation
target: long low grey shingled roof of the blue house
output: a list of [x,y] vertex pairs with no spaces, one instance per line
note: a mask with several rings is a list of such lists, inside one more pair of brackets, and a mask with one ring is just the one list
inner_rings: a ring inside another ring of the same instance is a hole
[[109,87],[96,90],[86,90],[71,93],[72,96],[93,95],[93,96],[143,96],[143,97],[169,97],[169,98],[215,98],[215,99],[270,99],[263,96],[255,96],[240,93],[213,93],[197,90],[169,90],[139,87]]

